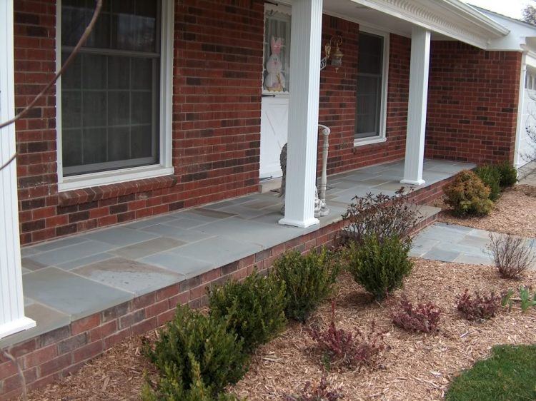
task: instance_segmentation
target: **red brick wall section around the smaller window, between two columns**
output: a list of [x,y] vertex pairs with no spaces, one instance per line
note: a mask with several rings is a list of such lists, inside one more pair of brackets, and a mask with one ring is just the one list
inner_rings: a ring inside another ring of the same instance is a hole
[[[329,136],[328,172],[384,163],[404,157],[407,127],[407,98],[410,87],[411,40],[391,34],[387,77],[387,141],[354,148],[355,92],[359,26],[324,15],[323,42],[333,35],[344,38],[342,67],[328,66],[321,75],[320,123],[332,128]],[[322,140],[319,138],[319,140]],[[319,153],[319,160],[320,160]]]

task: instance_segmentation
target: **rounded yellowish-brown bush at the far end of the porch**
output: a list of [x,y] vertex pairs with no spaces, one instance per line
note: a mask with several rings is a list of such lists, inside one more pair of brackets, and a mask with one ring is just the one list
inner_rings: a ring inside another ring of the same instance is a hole
[[460,171],[445,188],[447,205],[455,215],[487,215],[492,209],[490,188],[472,171]]

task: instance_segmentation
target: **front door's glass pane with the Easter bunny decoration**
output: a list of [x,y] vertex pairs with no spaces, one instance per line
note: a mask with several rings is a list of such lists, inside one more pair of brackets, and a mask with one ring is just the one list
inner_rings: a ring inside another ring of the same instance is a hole
[[290,16],[267,11],[264,23],[264,84],[266,91],[288,92],[290,82]]

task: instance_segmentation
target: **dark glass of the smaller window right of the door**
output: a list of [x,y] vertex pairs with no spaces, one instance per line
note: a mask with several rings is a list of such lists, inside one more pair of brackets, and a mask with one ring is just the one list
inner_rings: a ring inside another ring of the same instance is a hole
[[380,135],[384,41],[382,36],[359,32],[356,138]]

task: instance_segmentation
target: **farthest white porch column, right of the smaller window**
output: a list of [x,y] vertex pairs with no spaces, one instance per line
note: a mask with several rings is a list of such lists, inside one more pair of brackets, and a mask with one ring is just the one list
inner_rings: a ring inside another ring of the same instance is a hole
[[410,64],[410,98],[407,109],[405,184],[422,185],[422,165],[425,161],[425,130],[430,68],[430,31],[414,26]]

